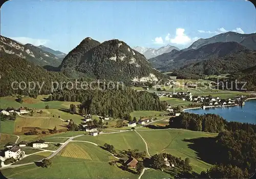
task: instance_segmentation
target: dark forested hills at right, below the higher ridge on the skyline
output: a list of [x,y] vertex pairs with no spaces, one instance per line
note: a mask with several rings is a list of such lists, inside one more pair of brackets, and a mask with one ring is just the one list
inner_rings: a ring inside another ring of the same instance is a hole
[[237,42],[216,42],[198,49],[172,51],[149,61],[161,71],[183,69],[194,74],[218,74],[256,65],[256,54]]

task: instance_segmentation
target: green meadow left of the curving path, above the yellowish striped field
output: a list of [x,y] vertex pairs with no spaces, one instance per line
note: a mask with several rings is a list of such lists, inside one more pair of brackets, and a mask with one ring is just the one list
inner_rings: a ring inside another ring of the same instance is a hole
[[140,151],[145,151],[146,147],[143,140],[136,134],[135,131],[128,131],[116,134],[102,134],[98,137],[93,137],[90,135],[84,135],[74,140],[83,140],[97,143],[98,145],[104,145],[104,143],[111,144],[118,150],[127,149],[139,149]]

